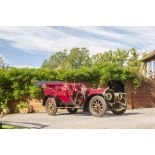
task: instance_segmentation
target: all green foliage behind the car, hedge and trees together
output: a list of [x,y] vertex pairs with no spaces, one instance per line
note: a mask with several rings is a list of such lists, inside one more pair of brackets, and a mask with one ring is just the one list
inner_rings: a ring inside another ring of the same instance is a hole
[[[86,48],[59,51],[43,62],[42,68],[1,68],[0,101],[39,98],[35,81],[89,82],[103,86],[108,80],[131,81],[139,85],[140,54],[135,49],[105,51],[90,56]],[[61,59],[60,59],[61,58]]]

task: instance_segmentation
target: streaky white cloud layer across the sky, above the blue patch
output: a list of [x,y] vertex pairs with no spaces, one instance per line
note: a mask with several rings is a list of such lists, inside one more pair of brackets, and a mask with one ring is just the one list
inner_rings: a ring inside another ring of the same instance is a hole
[[153,49],[155,27],[0,27],[0,39],[31,53],[53,53],[87,47],[92,53],[107,49]]

